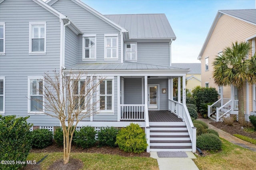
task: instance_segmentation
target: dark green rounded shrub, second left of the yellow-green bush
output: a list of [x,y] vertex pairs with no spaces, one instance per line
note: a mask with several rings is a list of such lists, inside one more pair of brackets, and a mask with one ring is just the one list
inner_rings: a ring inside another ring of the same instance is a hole
[[75,131],[74,142],[76,146],[81,148],[90,148],[95,145],[97,134],[94,127],[82,127],[79,131]]

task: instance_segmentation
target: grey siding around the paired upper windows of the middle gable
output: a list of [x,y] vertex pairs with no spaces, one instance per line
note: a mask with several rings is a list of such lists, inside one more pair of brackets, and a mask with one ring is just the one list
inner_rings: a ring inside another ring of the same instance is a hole
[[[68,16],[84,34],[96,34],[97,63],[120,63],[121,39],[120,31],[104,22],[94,14],[78,6],[71,0],[58,0],[53,8]],[[119,34],[118,61],[104,61],[104,34]],[[95,63],[95,61],[82,61],[82,35],[78,37],[78,63]]]

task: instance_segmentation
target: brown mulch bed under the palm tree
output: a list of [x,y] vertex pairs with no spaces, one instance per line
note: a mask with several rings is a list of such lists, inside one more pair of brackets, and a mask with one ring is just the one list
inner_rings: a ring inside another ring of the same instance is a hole
[[219,128],[229,134],[240,134],[243,136],[247,136],[253,139],[256,139],[256,131],[254,132],[248,132],[246,131],[246,128],[244,128],[240,123],[238,123],[237,121],[234,121],[233,126],[228,126],[225,123],[222,122],[213,122],[210,123],[211,125],[213,125],[216,128]]

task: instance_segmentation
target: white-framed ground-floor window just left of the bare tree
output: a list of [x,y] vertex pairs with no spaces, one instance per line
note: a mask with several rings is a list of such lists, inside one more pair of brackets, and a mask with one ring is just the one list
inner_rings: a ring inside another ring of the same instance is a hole
[[43,113],[43,80],[42,78],[29,78],[28,83],[28,112]]

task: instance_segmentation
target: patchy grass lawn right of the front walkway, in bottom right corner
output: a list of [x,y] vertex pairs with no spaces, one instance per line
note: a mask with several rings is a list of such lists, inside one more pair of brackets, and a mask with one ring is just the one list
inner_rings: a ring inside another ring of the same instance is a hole
[[255,170],[256,152],[222,139],[222,151],[194,160],[200,170]]

